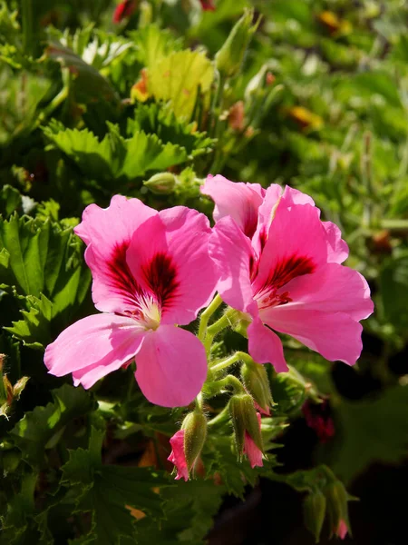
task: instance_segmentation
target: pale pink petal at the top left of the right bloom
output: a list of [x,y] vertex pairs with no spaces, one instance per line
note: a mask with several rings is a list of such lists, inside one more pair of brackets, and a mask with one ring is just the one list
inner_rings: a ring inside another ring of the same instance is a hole
[[224,176],[209,176],[201,193],[209,195],[215,203],[214,220],[230,216],[249,238],[257,229],[257,210],[265,195],[258,183],[230,182]]

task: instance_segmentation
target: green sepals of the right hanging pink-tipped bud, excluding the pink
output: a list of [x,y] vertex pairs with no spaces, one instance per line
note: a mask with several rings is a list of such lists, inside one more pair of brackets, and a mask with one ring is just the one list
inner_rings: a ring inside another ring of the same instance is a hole
[[246,446],[246,433],[259,451],[263,451],[262,435],[254,401],[248,393],[233,395],[229,400],[229,413],[234,427],[238,460],[242,461]]

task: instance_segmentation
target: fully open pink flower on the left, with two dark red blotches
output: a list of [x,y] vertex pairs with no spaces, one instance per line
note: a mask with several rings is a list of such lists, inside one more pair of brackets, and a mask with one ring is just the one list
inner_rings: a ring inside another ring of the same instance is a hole
[[207,375],[207,359],[186,325],[212,298],[209,222],[176,206],[160,213],[120,195],[88,206],[75,233],[87,244],[92,299],[102,314],[73,323],[44,356],[49,372],[96,381],[136,358],[136,380],[152,403],[187,405]]

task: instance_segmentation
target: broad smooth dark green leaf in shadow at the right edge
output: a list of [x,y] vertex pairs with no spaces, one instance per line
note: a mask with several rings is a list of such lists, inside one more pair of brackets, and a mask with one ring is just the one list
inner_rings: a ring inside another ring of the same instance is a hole
[[378,399],[342,401],[337,415],[341,433],[334,450],[334,471],[347,482],[375,461],[397,463],[408,444],[408,387],[395,386]]

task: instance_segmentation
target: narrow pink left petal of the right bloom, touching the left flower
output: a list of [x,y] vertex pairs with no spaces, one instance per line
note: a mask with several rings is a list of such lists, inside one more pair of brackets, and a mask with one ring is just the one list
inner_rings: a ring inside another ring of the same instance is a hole
[[209,255],[217,267],[222,299],[234,309],[248,312],[254,306],[250,281],[254,255],[248,237],[232,218],[222,218],[214,227]]

